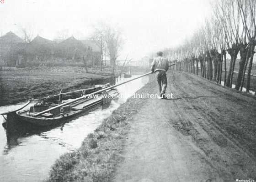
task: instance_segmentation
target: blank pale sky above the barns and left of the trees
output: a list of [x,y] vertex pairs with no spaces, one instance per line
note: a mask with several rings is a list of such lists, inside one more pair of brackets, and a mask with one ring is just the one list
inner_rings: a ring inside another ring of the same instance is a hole
[[125,45],[118,59],[133,60],[150,51],[179,45],[211,14],[209,0],[4,0],[0,3],[0,31],[53,40],[58,32],[82,39],[97,21],[117,24]]

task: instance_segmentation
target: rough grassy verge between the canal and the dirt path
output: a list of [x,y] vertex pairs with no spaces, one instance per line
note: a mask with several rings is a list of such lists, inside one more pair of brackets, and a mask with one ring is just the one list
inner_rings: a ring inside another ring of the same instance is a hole
[[[143,92],[144,86],[138,92]],[[46,182],[107,182],[112,178],[132,120],[145,99],[128,99],[104,120],[94,133],[89,134],[82,146],[65,153],[53,164]]]

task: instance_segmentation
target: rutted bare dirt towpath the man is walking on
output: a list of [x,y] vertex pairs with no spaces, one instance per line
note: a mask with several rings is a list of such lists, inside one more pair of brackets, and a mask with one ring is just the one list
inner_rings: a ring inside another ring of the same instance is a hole
[[[147,99],[134,116],[113,181],[255,178],[256,99],[186,73],[168,71],[167,79],[174,99]],[[155,80],[146,87],[157,93]]]

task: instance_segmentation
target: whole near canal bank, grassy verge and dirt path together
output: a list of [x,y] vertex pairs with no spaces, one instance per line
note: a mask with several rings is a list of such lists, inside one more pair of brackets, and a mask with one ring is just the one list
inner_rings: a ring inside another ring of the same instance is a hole
[[[52,167],[48,182],[233,182],[255,177],[256,100],[168,71],[174,99],[128,99]],[[139,94],[157,93],[153,75]]]

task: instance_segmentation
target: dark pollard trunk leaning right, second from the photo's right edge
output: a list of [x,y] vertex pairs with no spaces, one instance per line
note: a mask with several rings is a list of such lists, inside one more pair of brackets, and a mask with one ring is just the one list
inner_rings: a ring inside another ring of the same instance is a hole
[[235,89],[239,90],[242,82],[242,77],[243,77],[243,70],[245,67],[245,62],[246,62],[246,56],[247,56],[247,51],[245,49],[246,45],[242,45],[240,47],[240,61],[239,61],[239,70],[237,74],[237,79],[236,79],[236,84],[235,84]]

